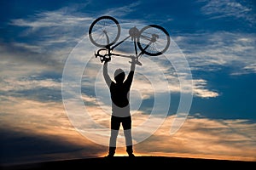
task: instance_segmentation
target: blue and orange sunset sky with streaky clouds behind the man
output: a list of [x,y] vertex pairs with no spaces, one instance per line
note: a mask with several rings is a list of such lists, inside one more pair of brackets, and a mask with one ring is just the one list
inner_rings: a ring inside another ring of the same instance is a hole
[[[136,68],[135,155],[256,161],[255,1],[3,0],[0,9],[1,164],[108,154],[109,92],[88,37],[102,15],[119,21],[119,40],[151,24],[171,37]],[[127,73],[129,59],[113,57],[109,74],[117,67]],[[120,129],[117,156],[124,146]]]

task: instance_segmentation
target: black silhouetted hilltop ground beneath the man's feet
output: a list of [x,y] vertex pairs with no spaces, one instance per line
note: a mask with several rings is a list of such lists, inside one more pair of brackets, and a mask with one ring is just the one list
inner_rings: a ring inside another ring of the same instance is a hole
[[137,168],[137,167],[154,167],[156,169],[172,167],[172,168],[210,168],[218,167],[240,167],[248,169],[255,167],[256,161],[227,161],[227,160],[212,160],[198,158],[181,158],[181,157],[166,157],[166,156],[114,156],[113,158],[97,157],[89,159],[73,159],[64,161],[46,161],[41,163],[31,163],[25,165],[15,165],[3,167],[3,170],[48,170],[56,169],[88,169],[93,168]]

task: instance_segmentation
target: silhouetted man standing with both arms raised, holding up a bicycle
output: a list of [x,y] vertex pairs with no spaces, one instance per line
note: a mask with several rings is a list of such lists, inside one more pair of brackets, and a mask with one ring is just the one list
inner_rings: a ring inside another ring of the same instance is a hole
[[108,61],[103,65],[103,76],[110,90],[112,99],[112,116],[111,116],[111,134],[109,139],[108,157],[112,157],[116,150],[116,140],[119,133],[119,127],[122,123],[125,134],[126,152],[129,156],[133,155],[132,138],[131,138],[131,113],[130,113],[130,88],[135,71],[135,58],[131,57],[131,70],[125,79],[125,71],[117,69],[114,72],[113,82],[108,75]]

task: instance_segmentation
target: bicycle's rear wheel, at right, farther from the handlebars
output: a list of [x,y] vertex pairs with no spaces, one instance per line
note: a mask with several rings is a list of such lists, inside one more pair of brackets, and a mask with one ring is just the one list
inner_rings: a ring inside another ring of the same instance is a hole
[[170,46],[169,33],[161,26],[145,26],[140,31],[137,46],[142,50],[143,54],[151,56],[163,54]]

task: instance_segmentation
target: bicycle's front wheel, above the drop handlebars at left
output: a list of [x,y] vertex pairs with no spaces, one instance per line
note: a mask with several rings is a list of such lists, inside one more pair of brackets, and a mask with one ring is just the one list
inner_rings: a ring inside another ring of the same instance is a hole
[[119,39],[120,29],[119,22],[113,17],[99,17],[90,25],[90,42],[100,48],[112,45]]

